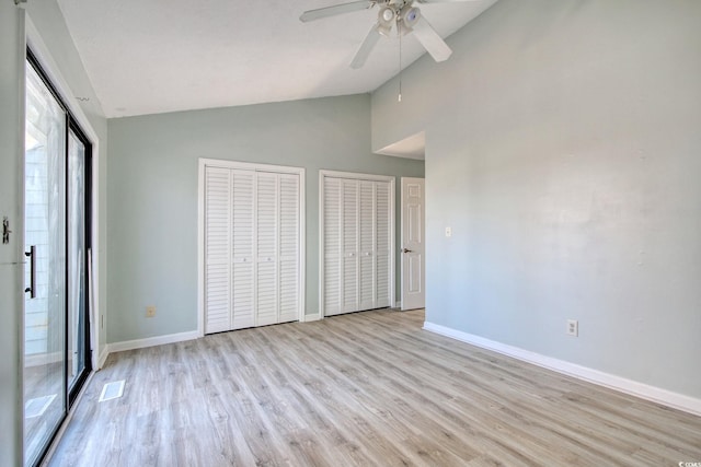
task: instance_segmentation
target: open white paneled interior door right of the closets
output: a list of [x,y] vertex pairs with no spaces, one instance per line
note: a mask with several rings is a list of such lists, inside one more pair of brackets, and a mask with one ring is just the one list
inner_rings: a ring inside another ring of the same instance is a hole
[[402,177],[402,310],[426,306],[424,179]]

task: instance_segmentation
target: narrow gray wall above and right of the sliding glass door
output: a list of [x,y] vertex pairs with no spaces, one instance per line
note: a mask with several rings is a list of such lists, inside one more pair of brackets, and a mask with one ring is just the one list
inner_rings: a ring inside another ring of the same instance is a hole
[[[100,291],[100,302],[97,303],[99,315],[107,313],[107,119],[102,115],[102,108],[97,96],[90,83],[88,73],[83,68],[73,39],[68,32],[66,21],[56,0],[30,0],[27,2],[27,15],[41,36],[41,46],[46,47],[50,57],[39,57],[42,66],[49,73],[50,78],[58,84],[60,79],[68,84],[74,95],[62,95],[71,108],[80,107],[88,122],[97,136],[97,151],[93,152],[93,164],[97,167],[97,261],[96,271],[99,273],[97,288]],[[34,46],[30,40],[30,47]],[[41,50],[37,44],[34,51]],[[51,60],[49,63],[46,60]],[[74,100],[81,97],[82,101]],[[85,101],[88,100],[88,101]],[[87,130],[87,128],[84,128]],[[104,323],[104,319],[103,319]],[[100,349],[104,350],[106,343],[106,328],[100,328]]]

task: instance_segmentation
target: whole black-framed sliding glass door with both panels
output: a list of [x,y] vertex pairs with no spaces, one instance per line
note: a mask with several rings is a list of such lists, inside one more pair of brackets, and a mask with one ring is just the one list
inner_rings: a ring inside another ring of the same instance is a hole
[[90,371],[90,144],[26,67],[24,457],[41,462]]

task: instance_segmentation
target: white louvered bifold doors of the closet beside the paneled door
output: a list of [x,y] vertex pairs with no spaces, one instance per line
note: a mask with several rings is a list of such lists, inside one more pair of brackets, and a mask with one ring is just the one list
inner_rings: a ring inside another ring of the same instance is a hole
[[388,182],[324,177],[324,315],[390,306]]

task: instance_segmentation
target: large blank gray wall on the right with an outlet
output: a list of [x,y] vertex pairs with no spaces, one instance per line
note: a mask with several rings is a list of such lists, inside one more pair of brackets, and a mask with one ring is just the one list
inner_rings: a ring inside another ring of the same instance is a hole
[[701,397],[699,24],[501,0],[374,94],[374,148],[426,130],[428,322]]

